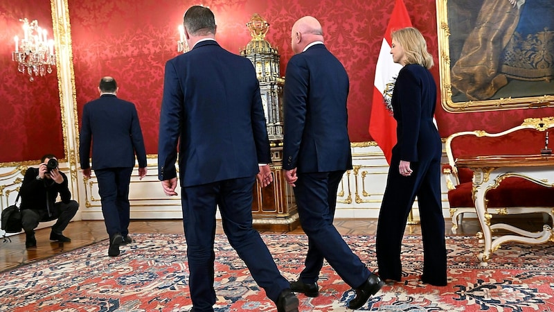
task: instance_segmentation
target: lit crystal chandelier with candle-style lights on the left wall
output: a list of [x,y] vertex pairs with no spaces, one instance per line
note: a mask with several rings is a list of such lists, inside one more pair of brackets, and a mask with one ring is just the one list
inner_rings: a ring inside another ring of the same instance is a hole
[[56,64],[54,55],[54,40],[48,40],[46,29],[40,28],[38,21],[19,19],[23,24],[24,36],[15,36],[15,51],[12,52],[12,60],[17,62],[17,70],[27,73],[29,80],[34,81],[34,76],[45,76],[52,72],[52,66]]

